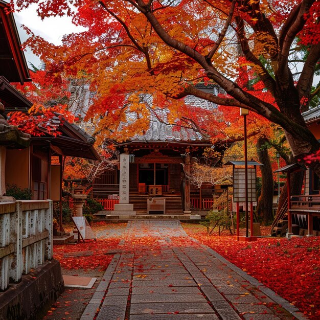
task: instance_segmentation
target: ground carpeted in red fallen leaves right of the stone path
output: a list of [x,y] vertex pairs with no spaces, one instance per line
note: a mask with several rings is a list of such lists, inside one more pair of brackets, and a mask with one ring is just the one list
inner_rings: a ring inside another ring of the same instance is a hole
[[256,242],[208,236],[197,224],[183,223],[187,234],[208,245],[249,275],[293,303],[310,319],[320,319],[320,238],[262,238]]

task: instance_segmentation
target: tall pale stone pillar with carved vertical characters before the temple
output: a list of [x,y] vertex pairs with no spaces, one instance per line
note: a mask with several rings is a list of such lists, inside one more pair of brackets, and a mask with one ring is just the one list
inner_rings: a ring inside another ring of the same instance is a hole
[[133,204],[129,203],[129,153],[120,154],[119,203],[115,204],[112,215],[134,216]]

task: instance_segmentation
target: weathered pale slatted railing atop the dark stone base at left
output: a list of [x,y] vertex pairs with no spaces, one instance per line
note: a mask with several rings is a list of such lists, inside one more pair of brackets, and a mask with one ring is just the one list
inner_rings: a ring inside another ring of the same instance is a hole
[[51,200],[0,203],[0,289],[52,259]]

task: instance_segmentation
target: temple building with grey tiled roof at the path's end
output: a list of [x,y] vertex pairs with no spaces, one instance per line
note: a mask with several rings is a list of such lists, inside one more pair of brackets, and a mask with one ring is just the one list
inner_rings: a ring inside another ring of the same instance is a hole
[[[218,94],[218,86],[200,86]],[[216,104],[194,96],[187,96],[184,102],[218,112]],[[119,199],[111,214],[190,214],[193,209],[210,208],[213,194],[223,192],[221,186],[198,188],[190,183],[192,164],[199,161],[204,149],[212,147],[212,143],[208,136],[193,129],[168,124],[169,112],[153,109],[146,132],[123,143],[115,142],[120,152],[118,169],[106,170],[93,181],[94,198]],[[127,121],[134,118],[135,113],[129,112]],[[151,199],[159,204],[154,205],[154,210]]]

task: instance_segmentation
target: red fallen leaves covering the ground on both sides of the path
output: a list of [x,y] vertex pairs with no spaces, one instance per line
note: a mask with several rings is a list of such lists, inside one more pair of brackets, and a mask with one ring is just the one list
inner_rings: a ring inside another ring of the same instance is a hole
[[[105,270],[112,259],[112,252],[119,250],[126,223],[93,224],[99,238],[75,245],[55,245],[54,257],[63,269],[77,275],[83,270]],[[192,238],[208,245],[227,260],[287,299],[310,319],[320,319],[320,238],[262,238],[256,242],[236,241],[230,233],[217,231],[208,236],[205,227],[199,224],[182,223]],[[243,233],[243,231],[241,232]],[[268,228],[262,230],[268,234]],[[150,246],[152,237],[133,239],[121,246],[124,251],[134,246]],[[178,238],[181,245],[192,241]],[[154,245],[154,243],[153,243]],[[131,246],[131,247],[130,247]],[[70,300],[70,299],[68,299]],[[68,318],[68,317],[66,317]]]

